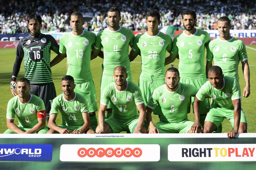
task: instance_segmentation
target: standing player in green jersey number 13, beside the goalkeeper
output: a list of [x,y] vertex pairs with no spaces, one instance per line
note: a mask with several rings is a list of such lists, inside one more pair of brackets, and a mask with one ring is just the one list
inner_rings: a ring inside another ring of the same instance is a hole
[[73,12],[70,16],[72,32],[69,32],[59,40],[60,55],[51,61],[51,67],[58,64],[67,55],[67,75],[74,77],[74,92],[85,96],[88,103],[91,128],[96,129],[98,123],[95,111],[97,111],[96,91],[93,76],[90,69],[91,49],[96,40],[93,32],[83,30],[83,15],[80,12]]

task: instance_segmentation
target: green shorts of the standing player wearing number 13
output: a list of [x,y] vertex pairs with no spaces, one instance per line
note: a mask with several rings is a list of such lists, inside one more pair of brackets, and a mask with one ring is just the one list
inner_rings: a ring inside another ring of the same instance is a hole
[[74,92],[85,96],[87,104],[88,104],[89,113],[98,111],[96,91],[95,91],[93,79],[91,79],[88,82],[84,82],[84,83],[75,82]]

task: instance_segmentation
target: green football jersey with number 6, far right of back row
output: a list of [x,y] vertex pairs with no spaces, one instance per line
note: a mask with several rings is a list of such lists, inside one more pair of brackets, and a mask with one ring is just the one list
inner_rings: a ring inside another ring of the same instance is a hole
[[206,60],[214,61],[214,65],[221,67],[225,76],[234,77],[237,82],[238,65],[247,59],[245,44],[234,37],[227,41],[216,38],[209,43]]

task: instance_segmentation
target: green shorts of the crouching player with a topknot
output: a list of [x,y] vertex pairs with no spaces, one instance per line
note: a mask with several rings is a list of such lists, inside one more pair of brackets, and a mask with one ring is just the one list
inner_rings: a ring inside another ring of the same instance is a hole
[[179,123],[158,122],[155,127],[158,128],[159,133],[187,133],[194,122],[185,120]]

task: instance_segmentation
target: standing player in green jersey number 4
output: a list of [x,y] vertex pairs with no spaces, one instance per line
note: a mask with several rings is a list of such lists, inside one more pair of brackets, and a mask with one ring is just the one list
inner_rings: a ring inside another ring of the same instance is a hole
[[[92,51],[92,58],[97,57],[103,47],[104,59],[101,77],[101,94],[104,88],[114,82],[114,68],[122,65],[127,70],[127,81],[132,81],[130,60],[129,60],[129,45],[132,47],[134,34],[129,28],[119,26],[121,14],[117,7],[112,7],[108,10],[107,20],[109,27],[98,32],[96,43]],[[110,117],[112,108],[110,103],[106,109],[106,117]]]

